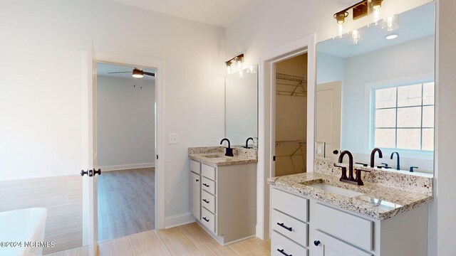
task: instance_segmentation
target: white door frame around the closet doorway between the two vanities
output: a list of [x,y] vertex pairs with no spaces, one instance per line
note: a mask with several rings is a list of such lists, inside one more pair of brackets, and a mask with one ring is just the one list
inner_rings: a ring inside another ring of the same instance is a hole
[[307,59],[307,163],[314,171],[315,147],[315,33],[279,46],[261,55],[259,62],[259,129],[257,166],[257,237],[270,238],[270,196],[267,179],[274,173],[275,63],[302,53]]

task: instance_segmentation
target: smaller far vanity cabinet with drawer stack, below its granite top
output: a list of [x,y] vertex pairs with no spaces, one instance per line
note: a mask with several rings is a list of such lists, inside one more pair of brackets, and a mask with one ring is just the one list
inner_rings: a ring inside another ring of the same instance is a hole
[[[192,169],[197,164],[200,176]],[[190,160],[190,170],[191,207],[197,223],[221,245],[254,237],[257,225],[257,164],[209,166]],[[200,181],[198,185],[197,178]],[[200,217],[197,209],[200,209]]]

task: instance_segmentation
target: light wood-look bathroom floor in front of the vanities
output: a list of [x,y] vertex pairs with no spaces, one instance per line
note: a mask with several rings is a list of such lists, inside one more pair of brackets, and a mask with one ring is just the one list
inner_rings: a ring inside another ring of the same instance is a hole
[[[250,238],[232,245],[219,245],[197,223],[167,230],[150,230],[124,238],[101,242],[99,256],[142,255],[270,255],[270,241]],[[52,256],[86,256],[87,247],[58,252]]]

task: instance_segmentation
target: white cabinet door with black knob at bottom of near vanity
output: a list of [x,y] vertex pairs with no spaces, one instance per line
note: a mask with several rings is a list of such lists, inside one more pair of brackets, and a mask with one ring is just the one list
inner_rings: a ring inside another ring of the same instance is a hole
[[369,252],[326,235],[319,230],[316,231],[315,240],[311,244],[315,249],[314,252],[316,252],[314,255],[317,256],[372,256]]

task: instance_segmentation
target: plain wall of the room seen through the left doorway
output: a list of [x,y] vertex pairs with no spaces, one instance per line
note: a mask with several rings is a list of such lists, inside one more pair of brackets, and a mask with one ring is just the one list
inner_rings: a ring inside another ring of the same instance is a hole
[[98,75],[97,90],[98,166],[105,171],[153,166],[155,80]]

